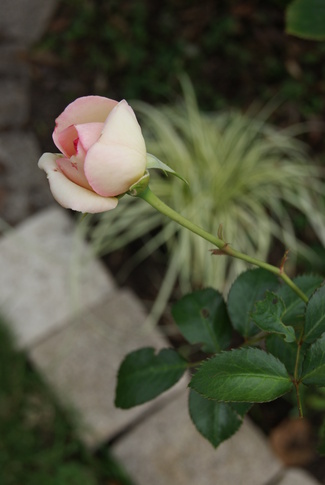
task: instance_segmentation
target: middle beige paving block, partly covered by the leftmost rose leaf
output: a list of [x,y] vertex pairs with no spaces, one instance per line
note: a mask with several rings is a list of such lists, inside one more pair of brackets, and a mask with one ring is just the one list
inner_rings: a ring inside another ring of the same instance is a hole
[[[30,351],[32,362],[61,401],[77,411],[81,438],[91,448],[112,438],[159,401],[127,411],[114,407],[117,371],[125,355],[144,346],[167,346],[156,329],[143,326],[145,316],[132,293],[118,291]],[[185,388],[184,381],[180,385]]]

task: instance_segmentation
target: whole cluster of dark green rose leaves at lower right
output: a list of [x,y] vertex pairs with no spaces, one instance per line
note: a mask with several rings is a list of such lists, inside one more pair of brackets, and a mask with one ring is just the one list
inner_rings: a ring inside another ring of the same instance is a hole
[[[164,349],[157,355],[152,348],[132,352],[118,373],[116,404],[129,408],[153,399],[175,384],[186,368],[194,367],[189,412],[214,447],[239,429],[253,403],[290,393],[302,414],[308,390],[313,393],[316,386],[321,392],[325,387],[325,297],[324,286],[315,289],[321,277],[304,275],[295,281],[308,293],[307,303],[303,296],[298,304],[292,288],[288,292],[260,268],[241,274],[226,302],[211,288],[184,296],[173,305],[172,314],[189,345],[201,344],[204,355],[192,362],[180,357],[181,349]],[[291,325],[284,323],[286,315]],[[258,328],[262,332],[256,334]],[[234,329],[245,340],[225,350]],[[323,441],[321,437],[320,450]]]

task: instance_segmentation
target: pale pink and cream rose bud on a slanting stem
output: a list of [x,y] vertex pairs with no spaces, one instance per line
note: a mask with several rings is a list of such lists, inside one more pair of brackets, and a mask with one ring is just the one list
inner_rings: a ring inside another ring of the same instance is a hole
[[53,141],[61,154],[44,153],[55,200],[80,212],[114,209],[145,173],[146,145],[132,108],[101,96],[73,101],[56,119]]

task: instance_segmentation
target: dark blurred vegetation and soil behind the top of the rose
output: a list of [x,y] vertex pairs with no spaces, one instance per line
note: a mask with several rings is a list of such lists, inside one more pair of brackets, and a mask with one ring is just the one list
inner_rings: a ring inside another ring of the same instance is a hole
[[285,33],[289,3],[63,0],[32,54],[39,134],[53,125],[49,108],[58,114],[83,94],[172,103],[185,71],[204,110],[280,98],[275,121],[313,122],[308,141],[320,152],[325,42]]

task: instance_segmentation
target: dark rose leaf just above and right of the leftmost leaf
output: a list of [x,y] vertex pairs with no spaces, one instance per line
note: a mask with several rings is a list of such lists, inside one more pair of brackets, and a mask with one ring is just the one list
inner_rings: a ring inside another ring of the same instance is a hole
[[181,334],[191,344],[202,344],[204,352],[225,350],[231,341],[226,304],[212,288],[196,291],[178,300],[172,314]]

